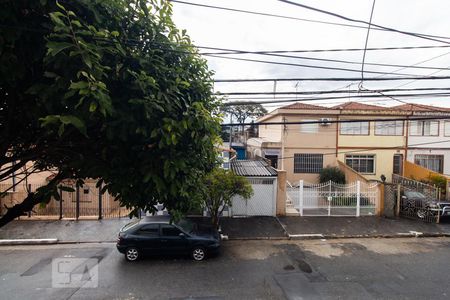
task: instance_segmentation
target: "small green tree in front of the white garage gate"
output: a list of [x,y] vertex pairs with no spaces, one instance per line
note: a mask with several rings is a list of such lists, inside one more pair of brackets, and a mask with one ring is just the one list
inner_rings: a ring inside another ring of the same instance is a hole
[[234,196],[249,199],[253,188],[247,178],[221,168],[214,169],[203,179],[202,201],[210,216],[211,223],[218,228],[219,217],[225,206],[231,206]]

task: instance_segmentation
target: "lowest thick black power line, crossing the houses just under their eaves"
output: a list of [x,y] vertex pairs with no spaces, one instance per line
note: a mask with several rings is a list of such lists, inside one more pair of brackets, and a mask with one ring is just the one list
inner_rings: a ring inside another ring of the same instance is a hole
[[[444,112],[444,111],[443,111]],[[362,123],[362,122],[386,122],[386,121],[426,121],[426,120],[448,120],[450,119],[450,110],[448,116],[433,116],[433,117],[417,117],[411,116],[409,118],[391,118],[391,119],[353,119],[353,120],[328,120],[330,124],[342,123]],[[302,124],[321,124],[323,121],[295,121],[295,122],[259,122],[259,123],[225,123],[222,127],[229,126],[250,126],[250,125],[302,125]]]

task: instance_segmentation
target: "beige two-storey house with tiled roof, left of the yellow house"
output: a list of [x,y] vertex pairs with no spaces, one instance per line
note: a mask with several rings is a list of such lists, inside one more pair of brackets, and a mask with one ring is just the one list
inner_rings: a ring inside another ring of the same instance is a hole
[[261,125],[259,137],[247,141],[250,158],[263,157],[286,170],[287,180],[316,182],[323,167],[336,166],[338,111],[322,106],[294,103],[260,118],[258,122],[320,122],[314,124]]

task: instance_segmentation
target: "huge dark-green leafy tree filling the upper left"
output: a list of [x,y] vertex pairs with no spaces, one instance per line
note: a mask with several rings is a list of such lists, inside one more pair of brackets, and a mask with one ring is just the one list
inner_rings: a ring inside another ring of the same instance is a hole
[[7,0],[0,18],[0,181],[58,171],[0,226],[68,178],[98,179],[134,215],[190,209],[216,164],[219,103],[170,4]]

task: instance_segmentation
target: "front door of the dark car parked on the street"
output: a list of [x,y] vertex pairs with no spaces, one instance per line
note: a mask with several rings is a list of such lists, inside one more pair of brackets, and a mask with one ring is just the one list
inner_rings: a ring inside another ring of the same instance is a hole
[[187,236],[171,224],[161,224],[161,250],[167,254],[186,253],[189,247]]

